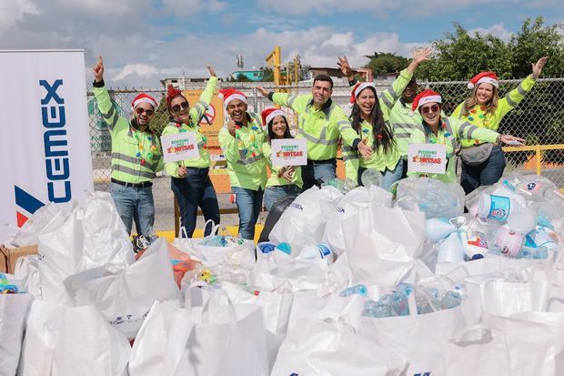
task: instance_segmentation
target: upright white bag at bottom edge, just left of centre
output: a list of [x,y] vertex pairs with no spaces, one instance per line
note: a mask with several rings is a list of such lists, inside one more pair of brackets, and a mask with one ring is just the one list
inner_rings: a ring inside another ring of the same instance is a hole
[[204,307],[176,311],[160,375],[267,375],[266,336],[259,307],[213,295]]

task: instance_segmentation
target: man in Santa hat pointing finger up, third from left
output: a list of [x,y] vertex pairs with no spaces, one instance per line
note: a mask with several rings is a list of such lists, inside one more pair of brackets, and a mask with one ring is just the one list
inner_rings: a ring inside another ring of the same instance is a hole
[[247,96],[227,88],[219,90],[229,120],[219,130],[219,145],[227,160],[227,173],[239,212],[239,234],[255,238],[255,225],[267,184],[267,160],[262,152],[265,133],[260,117],[248,112]]

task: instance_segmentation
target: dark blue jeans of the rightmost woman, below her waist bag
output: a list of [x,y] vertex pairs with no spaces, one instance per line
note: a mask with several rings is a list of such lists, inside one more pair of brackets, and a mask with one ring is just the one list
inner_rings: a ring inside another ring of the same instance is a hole
[[491,149],[488,160],[477,166],[468,166],[462,162],[460,185],[468,195],[479,186],[490,186],[498,182],[505,169],[505,155],[499,145]]

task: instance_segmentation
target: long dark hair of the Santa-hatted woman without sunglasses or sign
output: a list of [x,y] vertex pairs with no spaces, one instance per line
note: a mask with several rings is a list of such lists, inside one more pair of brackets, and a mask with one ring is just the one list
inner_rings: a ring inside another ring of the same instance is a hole
[[[373,149],[378,149],[378,147],[383,147],[384,152],[388,152],[394,145],[394,136],[389,123],[384,120],[384,114],[380,108],[380,102],[378,100],[378,95],[376,94],[376,89],[374,87],[368,86],[370,90],[374,93],[376,97],[376,102],[370,113],[370,124],[372,125],[372,137],[373,137]],[[366,89],[365,89],[366,90]],[[363,90],[364,91],[364,90]],[[362,129],[360,125],[364,121],[361,115],[360,107],[358,107],[357,102],[353,105],[352,112],[350,113],[350,124],[362,138]]]

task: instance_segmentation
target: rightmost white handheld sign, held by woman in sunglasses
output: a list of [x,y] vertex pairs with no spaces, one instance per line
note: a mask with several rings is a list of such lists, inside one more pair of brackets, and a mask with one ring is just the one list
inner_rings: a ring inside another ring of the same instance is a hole
[[447,147],[443,144],[410,144],[408,172],[444,174],[447,170]]

